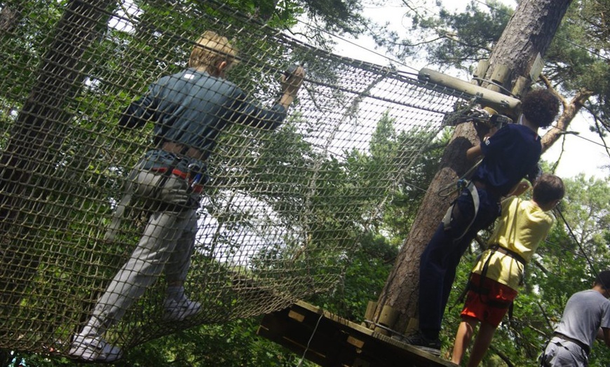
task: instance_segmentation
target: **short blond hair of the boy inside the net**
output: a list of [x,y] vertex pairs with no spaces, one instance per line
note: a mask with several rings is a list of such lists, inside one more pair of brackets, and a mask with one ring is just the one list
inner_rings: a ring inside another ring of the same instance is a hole
[[215,74],[218,65],[226,61],[226,67],[231,67],[236,60],[237,49],[231,46],[229,39],[219,36],[216,32],[205,31],[196,42],[189,67],[203,69],[210,74]]

